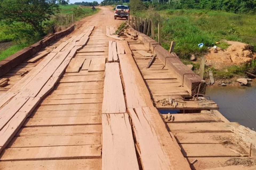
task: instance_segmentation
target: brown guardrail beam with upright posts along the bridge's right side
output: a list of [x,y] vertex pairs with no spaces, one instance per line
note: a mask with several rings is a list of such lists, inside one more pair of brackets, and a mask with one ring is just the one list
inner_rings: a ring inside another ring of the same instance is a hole
[[[193,96],[195,94],[205,94],[206,82],[196,73],[184,65],[175,53],[165,50],[161,44],[161,23],[158,22],[158,42],[152,39],[154,37],[155,22],[142,19],[136,16],[130,16],[128,19],[131,34],[138,36],[145,45],[157,54],[157,57],[165,63],[165,66],[174,71],[177,79],[182,82],[181,86],[187,88]],[[151,29],[149,29],[151,27]],[[142,32],[141,32],[142,31]],[[153,35],[152,35],[153,34]],[[151,35],[151,38],[147,35]]]

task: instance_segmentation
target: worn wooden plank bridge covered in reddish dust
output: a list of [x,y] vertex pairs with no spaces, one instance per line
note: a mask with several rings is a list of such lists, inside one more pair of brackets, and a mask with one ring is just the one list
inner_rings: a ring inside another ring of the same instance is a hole
[[175,53],[114,35],[112,15],[0,63],[0,169],[255,169],[255,132],[195,97],[205,82]]

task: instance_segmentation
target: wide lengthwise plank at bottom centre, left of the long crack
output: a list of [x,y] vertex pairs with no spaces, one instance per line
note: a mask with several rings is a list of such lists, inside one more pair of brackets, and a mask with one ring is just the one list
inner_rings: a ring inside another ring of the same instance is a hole
[[102,169],[139,169],[129,116],[102,114]]

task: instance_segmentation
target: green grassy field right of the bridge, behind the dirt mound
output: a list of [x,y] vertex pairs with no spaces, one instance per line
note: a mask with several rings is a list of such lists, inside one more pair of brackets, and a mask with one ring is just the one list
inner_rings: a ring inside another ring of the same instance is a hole
[[[162,10],[156,11],[162,20],[162,46],[170,48],[171,41],[176,41],[174,52],[185,64],[189,61],[191,54],[197,57],[203,56],[208,47],[217,45],[222,49],[228,48],[228,44],[222,40],[240,41],[252,45],[256,50],[256,15],[234,14],[223,11],[210,10]],[[154,12],[134,12],[145,18],[153,18]],[[155,40],[157,40],[157,28],[155,29]],[[220,42],[220,44],[216,44]],[[198,44],[203,43],[203,48]],[[198,63],[193,63],[199,68]],[[209,69],[209,68],[206,68]],[[212,69],[212,68],[210,68]],[[214,70],[218,78],[231,78],[242,73],[245,69],[241,67],[228,68],[228,72]]]

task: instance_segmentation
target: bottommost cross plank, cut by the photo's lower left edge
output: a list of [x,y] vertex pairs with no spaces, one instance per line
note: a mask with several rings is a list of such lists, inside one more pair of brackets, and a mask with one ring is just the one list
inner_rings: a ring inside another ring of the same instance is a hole
[[61,169],[100,170],[101,159],[65,159],[65,160],[33,160],[33,161],[1,161],[2,170],[13,169]]

